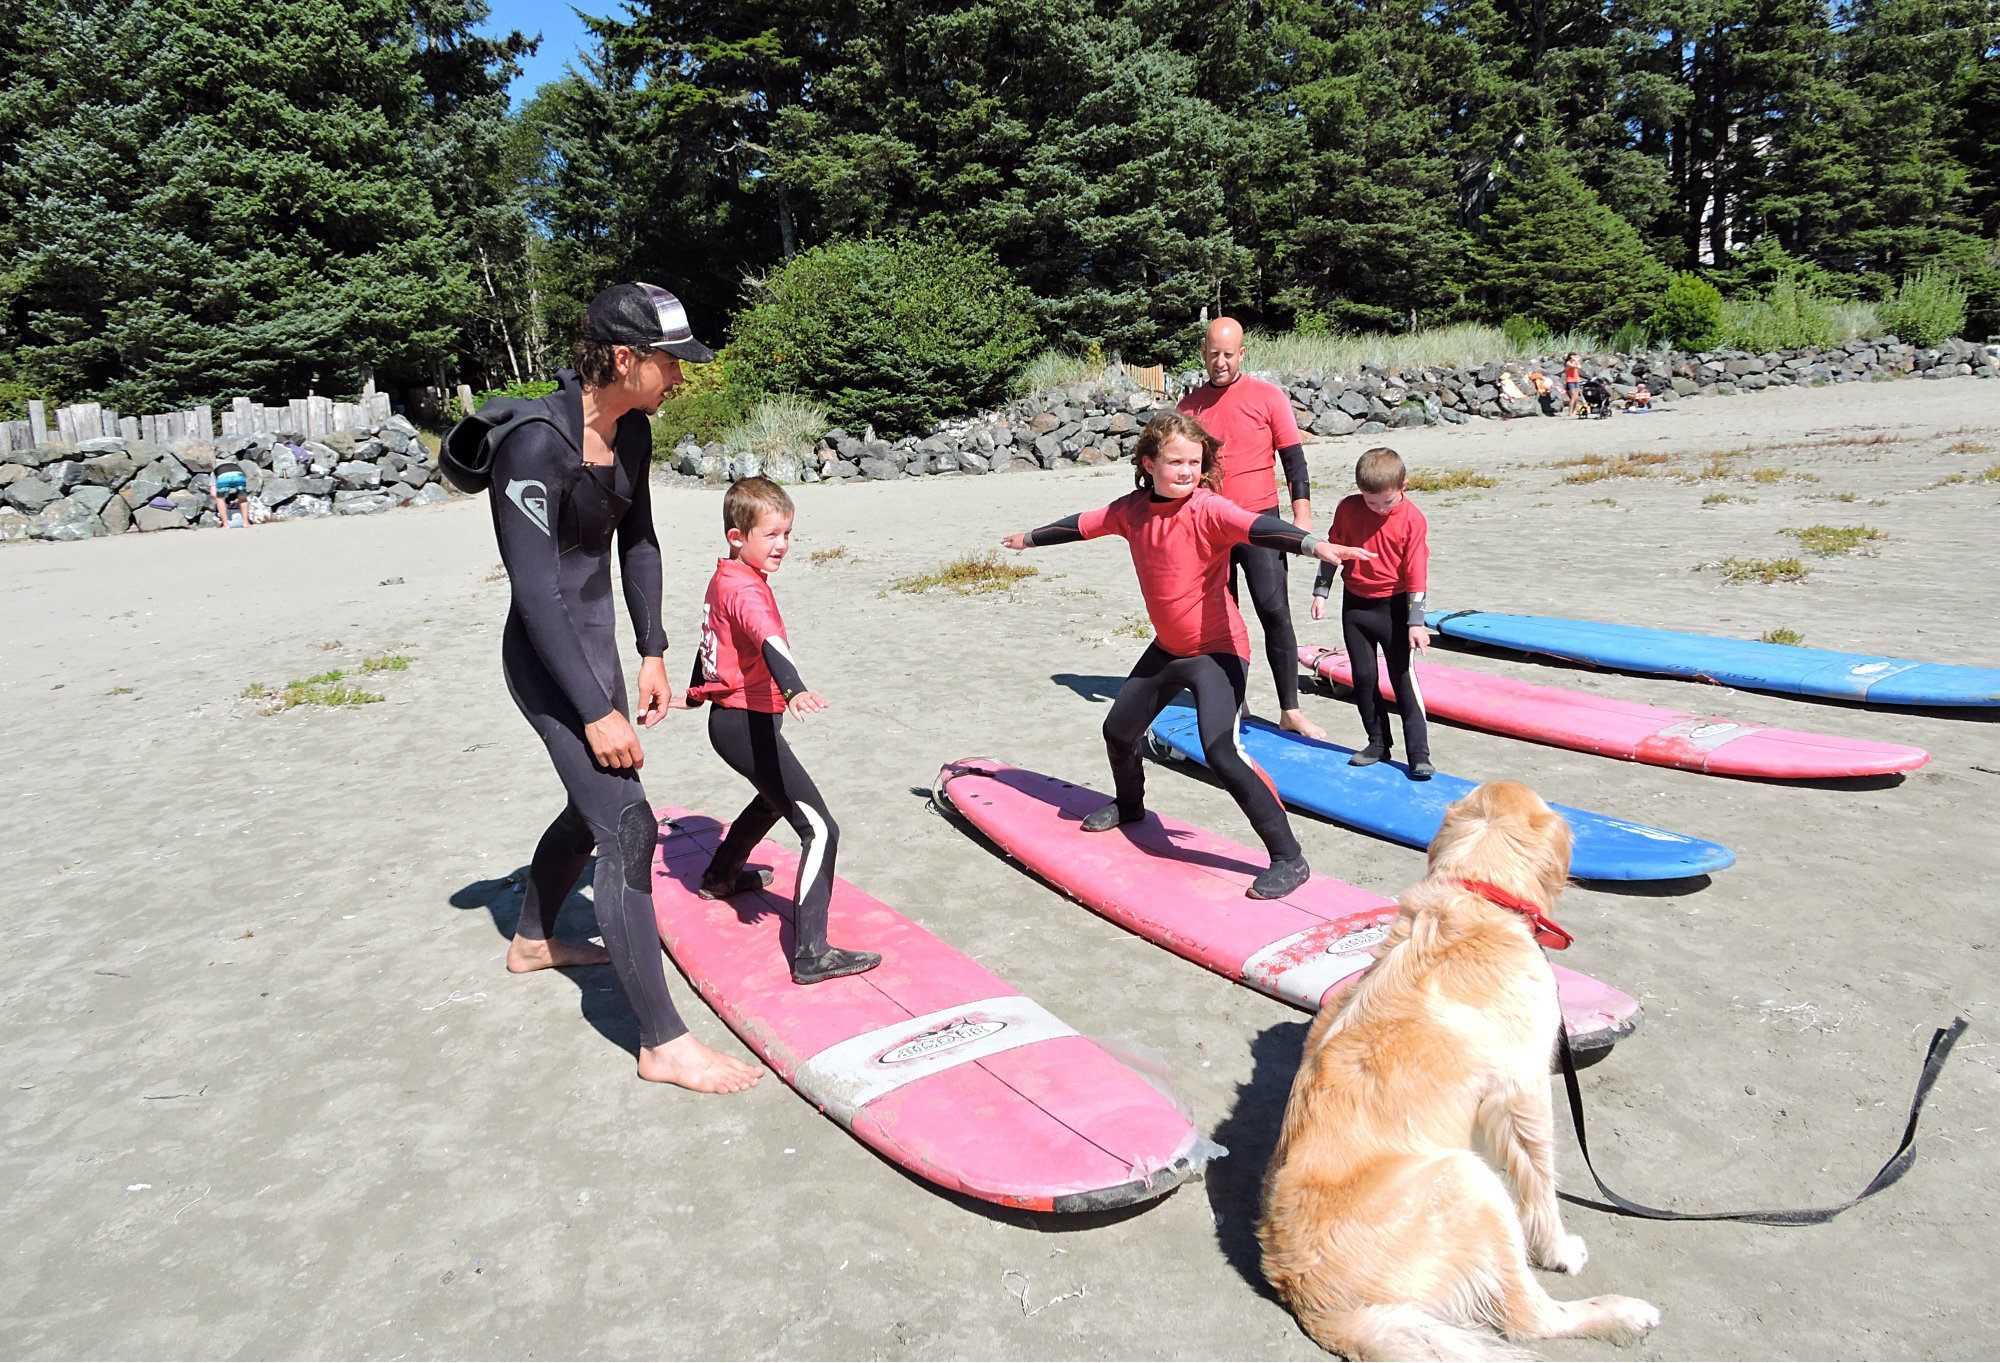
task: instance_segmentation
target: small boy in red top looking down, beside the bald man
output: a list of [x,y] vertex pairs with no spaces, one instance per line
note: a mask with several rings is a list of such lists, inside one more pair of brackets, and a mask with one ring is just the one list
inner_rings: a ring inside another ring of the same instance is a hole
[[[1354,707],[1362,711],[1362,731],[1368,745],[1348,759],[1366,767],[1390,755],[1388,715],[1382,713],[1382,689],[1376,674],[1376,648],[1388,662],[1396,687],[1396,711],[1402,715],[1402,741],[1410,751],[1410,779],[1428,781],[1430,725],[1424,721],[1424,693],[1410,668],[1410,652],[1430,648],[1424,630],[1424,588],[1430,578],[1430,524],[1404,496],[1408,474],[1402,456],[1376,448],[1354,466],[1358,494],[1342,498],[1334,508],[1328,534],[1352,540],[1374,558],[1346,566],[1346,588],[1340,596],[1340,636],[1348,646],[1348,666],[1354,668]],[[1334,572],[1322,568],[1312,584],[1312,618],[1326,618],[1326,596]]]

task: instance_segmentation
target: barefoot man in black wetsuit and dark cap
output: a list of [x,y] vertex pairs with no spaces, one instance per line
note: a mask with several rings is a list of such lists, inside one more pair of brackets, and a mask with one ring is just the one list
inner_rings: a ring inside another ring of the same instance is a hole
[[[714,354],[694,340],[680,302],[652,284],[616,284],[584,314],[576,370],[542,398],[548,420],[518,422],[492,456],[492,516],[512,608],[500,666],[514,703],[556,763],[568,803],[528,867],[510,971],[610,965],[638,1013],[638,1073],[700,1093],[738,1093],[762,1077],[698,1041],[666,991],[652,915],[658,821],[638,769],[646,761],[626,699],[612,606],[612,540],[638,642],[638,711],[666,715],[660,538],[652,524],[652,430],[680,362]],[[604,947],[554,937],[556,913],[590,851],[598,853]]]

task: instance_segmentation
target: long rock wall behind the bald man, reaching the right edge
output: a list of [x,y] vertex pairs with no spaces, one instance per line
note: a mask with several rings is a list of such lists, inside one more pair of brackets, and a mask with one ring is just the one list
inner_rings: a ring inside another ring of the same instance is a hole
[[[1646,352],[1588,356],[1586,378],[1610,382],[1620,396],[1644,380],[1664,402],[1706,394],[1726,396],[1784,386],[1856,384],[1894,378],[2000,378],[2000,348],[1962,340],[1938,348],[1906,346],[1894,336],[1856,340],[1832,350],[1782,350],[1752,356],[1740,350],[1702,354]],[[1250,356],[1256,360],[1256,354]],[[1354,374],[1262,374],[1286,388],[1298,428],[1308,436],[1372,436],[1404,426],[1460,424],[1474,420],[1540,418],[1530,398],[1500,396],[1500,374],[1512,370],[1522,390],[1526,374],[1542,370],[1562,382],[1562,356],[1494,360],[1460,368],[1390,370],[1364,366]],[[764,474],[778,482],[924,478],[934,474],[1008,474],[1038,468],[1074,468],[1126,460],[1138,432],[1172,398],[1202,380],[1178,374],[1168,398],[1152,398],[1124,376],[1036,394],[960,422],[944,422],[926,436],[876,440],[874,430],[854,436],[828,432],[806,458],[754,454],[720,444],[684,444],[674,452],[678,474],[724,482]]]

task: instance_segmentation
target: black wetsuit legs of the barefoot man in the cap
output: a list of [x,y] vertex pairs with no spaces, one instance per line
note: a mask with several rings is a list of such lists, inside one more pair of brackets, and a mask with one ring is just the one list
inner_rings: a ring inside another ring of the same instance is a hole
[[[528,630],[518,620],[508,620],[500,666],[508,693],[548,747],[556,775],[570,795],[570,803],[542,833],[534,863],[528,867],[524,935],[532,937],[536,927],[548,935],[562,899],[582,871],[582,851],[596,845],[598,871],[592,895],[604,949],[610,951],[618,983],[638,1013],[638,1043],[666,1045],[684,1035],[688,1025],[666,991],[660,927],[652,915],[652,859],[660,843],[660,823],[646,803],[646,789],[636,771],[596,763],[576,707],[542,666]],[[622,676],[612,683],[612,703],[626,713]]]

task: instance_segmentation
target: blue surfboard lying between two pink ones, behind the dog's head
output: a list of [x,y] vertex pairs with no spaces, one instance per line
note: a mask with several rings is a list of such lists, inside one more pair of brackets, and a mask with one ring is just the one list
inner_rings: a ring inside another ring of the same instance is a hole
[[[1194,709],[1188,705],[1160,711],[1152,721],[1152,737],[1172,755],[1206,763]],[[1412,781],[1400,761],[1350,767],[1352,747],[1300,737],[1260,719],[1244,723],[1242,741],[1284,803],[1410,847],[1428,847],[1444,823],[1444,807],[1474,785],[1444,771],[1428,781]],[[1570,875],[1578,879],[1684,879],[1736,861],[1734,851],[1702,837],[1568,805],[1550,807],[1570,821],[1576,835]]]

